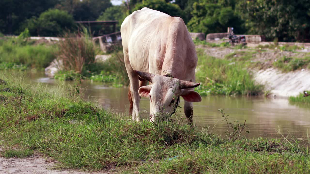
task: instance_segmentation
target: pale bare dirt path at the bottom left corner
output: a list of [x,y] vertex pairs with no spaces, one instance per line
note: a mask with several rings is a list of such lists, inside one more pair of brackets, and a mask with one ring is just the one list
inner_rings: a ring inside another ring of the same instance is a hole
[[57,161],[46,160],[42,155],[35,154],[23,159],[7,159],[0,157],[1,174],[112,174],[116,171],[85,172],[76,169],[52,170]]

